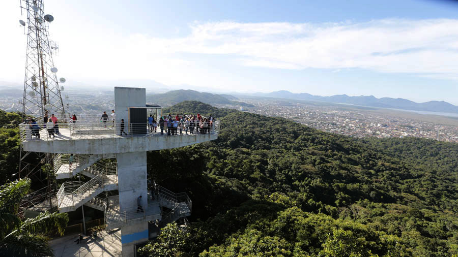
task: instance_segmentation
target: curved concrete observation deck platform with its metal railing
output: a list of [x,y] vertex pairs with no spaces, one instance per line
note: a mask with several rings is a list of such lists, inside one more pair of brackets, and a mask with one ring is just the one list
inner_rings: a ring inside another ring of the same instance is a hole
[[[120,124],[103,123],[58,123],[59,134],[54,138],[48,136],[48,130],[43,124],[40,129],[34,130],[29,124],[19,125],[21,142],[25,151],[49,153],[75,154],[107,154],[127,153],[136,151],[153,151],[177,148],[192,144],[215,140],[218,138],[219,122],[213,121],[206,130],[195,128],[191,134],[189,129],[180,127],[177,134],[167,134],[165,128],[161,134],[159,126],[157,132],[148,133],[148,124],[126,125],[127,135],[120,135]],[[202,131],[202,132],[201,132]],[[205,132],[205,133],[204,133]],[[38,138],[38,135],[40,137]]]

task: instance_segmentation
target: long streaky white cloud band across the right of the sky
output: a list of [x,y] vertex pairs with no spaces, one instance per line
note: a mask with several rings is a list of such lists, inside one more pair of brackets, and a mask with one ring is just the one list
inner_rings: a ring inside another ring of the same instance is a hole
[[[278,69],[362,68],[384,73],[458,71],[458,20],[385,19],[365,23],[191,24],[180,39],[144,38],[151,53],[228,54],[244,66]],[[452,74],[452,76],[450,76]]]

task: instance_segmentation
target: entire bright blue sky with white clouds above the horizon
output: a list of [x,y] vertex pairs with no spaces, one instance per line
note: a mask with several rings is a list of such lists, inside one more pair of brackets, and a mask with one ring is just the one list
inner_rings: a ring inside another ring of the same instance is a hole
[[[152,80],[173,89],[458,105],[452,1],[44,1],[55,17],[50,38],[60,44],[55,66],[68,88]],[[0,81],[21,84],[18,3],[4,3],[0,15],[10,35],[0,42],[7,60]]]

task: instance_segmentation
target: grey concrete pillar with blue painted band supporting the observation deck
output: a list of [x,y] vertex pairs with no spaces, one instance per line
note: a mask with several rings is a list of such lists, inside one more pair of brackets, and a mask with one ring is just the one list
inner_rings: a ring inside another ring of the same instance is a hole
[[[118,186],[120,210],[137,208],[137,198],[148,205],[147,153],[118,153]],[[135,244],[148,241],[148,221],[125,226],[121,229],[123,256],[135,256]]]

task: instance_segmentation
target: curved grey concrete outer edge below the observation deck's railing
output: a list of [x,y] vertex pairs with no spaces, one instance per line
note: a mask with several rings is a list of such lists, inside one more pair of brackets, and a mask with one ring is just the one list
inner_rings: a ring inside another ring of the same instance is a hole
[[218,138],[217,134],[197,136],[146,136],[105,139],[72,139],[22,142],[25,151],[50,153],[127,153],[154,151],[198,144]]

